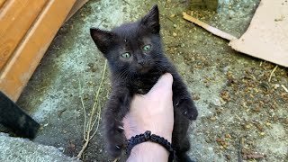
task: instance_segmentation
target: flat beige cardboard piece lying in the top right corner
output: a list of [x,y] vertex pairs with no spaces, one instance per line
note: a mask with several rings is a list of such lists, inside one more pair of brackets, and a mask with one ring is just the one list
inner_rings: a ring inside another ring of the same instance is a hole
[[229,46],[247,55],[288,67],[288,3],[262,0],[248,27]]

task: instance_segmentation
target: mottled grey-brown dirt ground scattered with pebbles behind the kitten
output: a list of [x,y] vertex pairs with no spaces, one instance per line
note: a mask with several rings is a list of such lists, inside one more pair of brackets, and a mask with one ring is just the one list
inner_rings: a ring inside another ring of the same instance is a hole
[[[190,132],[189,155],[197,161],[287,161],[288,69],[238,53],[201,27],[184,21],[182,12],[240,37],[259,0],[220,0],[217,12],[191,11],[182,0],[157,1],[163,43],[193,95],[199,118]],[[111,29],[135,21],[153,0],[90,0],[58,31],[18,104],[40,122],[34,139],[76,156],[83,145],[84,112],[94,103],[104,58],[89,35],[90,27]],[[82,88],[79,88],[81,85]],[[101,105],[110,90],[105,77]],[[102,106],[103,107],[103,106]],[[112,161],[98,130],[84,161]],[[239,154],[241,156],[239,156]]]

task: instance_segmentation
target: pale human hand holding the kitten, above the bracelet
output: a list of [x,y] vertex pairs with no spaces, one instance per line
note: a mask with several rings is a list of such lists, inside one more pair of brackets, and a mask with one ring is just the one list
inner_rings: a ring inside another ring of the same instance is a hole
[[123,118],[127,139],[151,130],[152,134],[171,142],[174,126],[172,83],[172,75],[166,73],[158,79],[148,94],[133,97],[130,112]]

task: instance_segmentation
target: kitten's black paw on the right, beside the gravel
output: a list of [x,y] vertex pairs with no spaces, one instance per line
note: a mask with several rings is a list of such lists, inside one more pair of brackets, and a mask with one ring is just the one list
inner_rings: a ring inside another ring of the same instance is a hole
[[184,117],[189,120],[196,120],[198,116],[198,111],[193,101],[190,100],[180,100],[175,106],[181,110]]

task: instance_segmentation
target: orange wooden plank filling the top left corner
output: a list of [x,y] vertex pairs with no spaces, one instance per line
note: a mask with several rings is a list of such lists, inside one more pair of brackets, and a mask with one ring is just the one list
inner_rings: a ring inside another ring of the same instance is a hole
[[0,14],[0,69],[12,55],[47,0],[11,0]]

